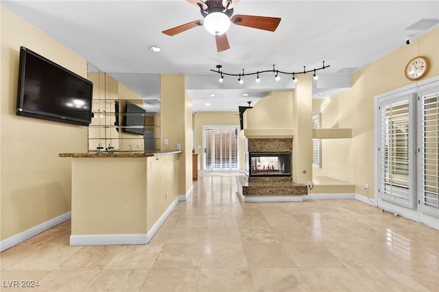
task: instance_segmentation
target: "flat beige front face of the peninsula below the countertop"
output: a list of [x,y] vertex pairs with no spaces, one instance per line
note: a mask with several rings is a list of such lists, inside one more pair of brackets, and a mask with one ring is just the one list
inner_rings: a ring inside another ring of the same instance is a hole
[[72,235],[147,232],[147,158],[60,159],[72,161]]

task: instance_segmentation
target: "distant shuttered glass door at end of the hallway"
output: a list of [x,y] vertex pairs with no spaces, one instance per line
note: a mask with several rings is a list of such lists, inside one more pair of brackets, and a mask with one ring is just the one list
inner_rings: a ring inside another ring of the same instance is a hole
[[239,126],[203,125],[203,170],[239,170]]

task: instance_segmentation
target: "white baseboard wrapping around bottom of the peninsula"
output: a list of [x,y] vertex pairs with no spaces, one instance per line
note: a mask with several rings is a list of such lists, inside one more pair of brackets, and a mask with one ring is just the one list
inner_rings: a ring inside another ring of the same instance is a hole
[[[183,196],[185,197],[185,196]],[[70,245],[141,245],[151,241],[158,228],[162,226],[172,210],[176,208],[179,197],[163,212],[146,234],[79,234],[70,236]]]

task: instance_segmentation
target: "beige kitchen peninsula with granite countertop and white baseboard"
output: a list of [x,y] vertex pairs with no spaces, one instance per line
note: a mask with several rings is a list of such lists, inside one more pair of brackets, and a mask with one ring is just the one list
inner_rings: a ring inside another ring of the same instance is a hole
[[146,244],[178,203],[182,151],[95,151],[71,158],[70,245]]

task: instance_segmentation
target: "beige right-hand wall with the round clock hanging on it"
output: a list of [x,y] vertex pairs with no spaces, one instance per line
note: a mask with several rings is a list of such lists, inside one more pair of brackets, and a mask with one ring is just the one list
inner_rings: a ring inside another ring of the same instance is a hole
[[[375,95],[412,84],[404,75],[405,65],[415,56],[426,56],[429,73],[439,75],[439,28],[403,45],[387,56],[353,73],[352,88],[329,98],[322,111],[322,127],[350,127],[353,138],[322,141],[324,175],[355,184],[355,193],[373,198],[374,185],[374,100]],[[369,191],[364,191],[369,184]]]

